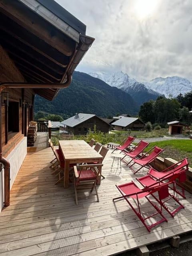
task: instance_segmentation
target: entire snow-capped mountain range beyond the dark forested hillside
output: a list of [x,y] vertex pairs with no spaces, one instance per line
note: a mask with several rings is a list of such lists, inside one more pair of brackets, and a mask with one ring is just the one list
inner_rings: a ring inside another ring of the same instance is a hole
[[142,104],[150,99],[155,100],[160,95],[164,95],[166,98],[176,98],[178,94],[182,93],[184,95],[192,90],[192,83],[188,79],[179,76],[159,77],[149,82],[140,82],[122,71],[116,73],[94,72],[89,74],[103,80],[110,86],[116,86],[124,92],[128,92],[138,104]]

